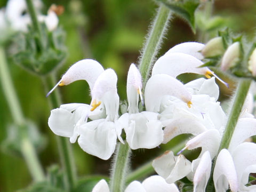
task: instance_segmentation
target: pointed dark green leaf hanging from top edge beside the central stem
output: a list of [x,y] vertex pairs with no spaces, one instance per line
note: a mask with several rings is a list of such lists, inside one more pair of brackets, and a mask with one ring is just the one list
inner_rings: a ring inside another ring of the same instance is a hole
[[199,0],[181,0],[181,1],[166,1],[157,0],[163,3],[166,7],[169,7],[171,11],[179,15],[182,19],[185,19],[193,32],[196,32],[195,27],[195,11],[199,5]]

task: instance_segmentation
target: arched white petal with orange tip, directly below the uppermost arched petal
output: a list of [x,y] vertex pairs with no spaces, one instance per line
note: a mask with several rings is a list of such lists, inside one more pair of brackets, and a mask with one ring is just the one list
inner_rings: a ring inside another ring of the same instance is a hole
[[195,73],[205,75],[210,71],[207,67],[200,67],[204,63],[195,57],[185,53],[170,53],[159,58],[153,69],[152,76],[156,74],[167,74],[177,77],[183,73]]

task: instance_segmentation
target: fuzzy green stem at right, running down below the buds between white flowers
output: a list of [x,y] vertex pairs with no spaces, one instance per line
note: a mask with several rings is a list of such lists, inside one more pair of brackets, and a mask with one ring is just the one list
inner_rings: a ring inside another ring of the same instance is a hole
[[[220,142],[220,147],[219,147],[219,151],[218,154],[220,153],[220,151],[222,149],[228,149],[229,147],[229,143],[231,141],[232,135],[234,133],[239,115],[241,114],[243,105],[244,105],[244,101],[246,99],[247,93],[249,91],[251,85],[251,79],[242,79],[237,87],[236,90],[236,95],[234,98],[234,103],[233,106],[231,108],[230,114],[228,116],[228,121],[227,121],[227,125],[226,125],[226,129],[223,133],[221,142]],[[213,165],[212,165],[212,170],[211,170],[211,177],[209,179],[209,182],[207,184],[207,188],[206,191],[207,192],[213,192],[214,190],[214,183],[213,183],[213,171],[214,171],[214,167],[215,167],[215,162],[216,162],[216,158],[218,157],[215,156],[214,161],[213,161]]]

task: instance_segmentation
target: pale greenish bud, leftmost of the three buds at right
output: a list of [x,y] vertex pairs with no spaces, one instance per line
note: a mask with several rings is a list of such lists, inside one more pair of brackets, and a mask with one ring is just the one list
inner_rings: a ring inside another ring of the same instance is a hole
[[202,54],[205,58],[215,57],[221,55],[225,52],[225,48],[223,46],[222,37],[215,37],[211,39],[202,50]]

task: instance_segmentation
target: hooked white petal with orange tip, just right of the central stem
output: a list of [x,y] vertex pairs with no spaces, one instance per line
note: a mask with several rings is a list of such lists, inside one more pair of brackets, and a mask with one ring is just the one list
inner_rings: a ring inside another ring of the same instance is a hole
[[150,77],[146,84],[146,110],[158,112],[161,99],[165,95],[172,95],[185,103],[191,101],[190,93],[180,81],[166,74],[158,74]]

